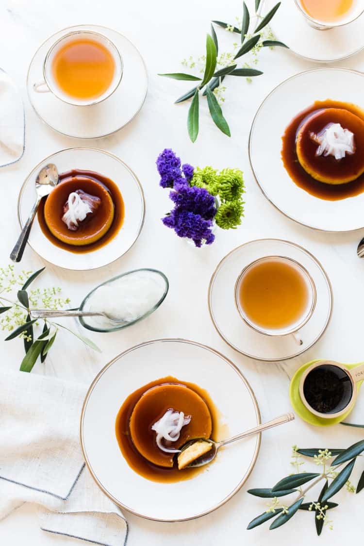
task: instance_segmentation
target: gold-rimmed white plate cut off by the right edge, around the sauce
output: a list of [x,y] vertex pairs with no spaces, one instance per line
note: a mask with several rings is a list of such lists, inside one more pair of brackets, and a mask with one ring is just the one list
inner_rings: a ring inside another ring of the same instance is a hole
[[284,215],[309,228],[350,232],[364,227],[364,193],[337,201],[314,197],[296,186],[281,158],[282,136],[291,120],[315,100],[325,99],[363,107],[364,74],[345,68],[316,68],[283,81],[255,114],[249,159],[261,191]]

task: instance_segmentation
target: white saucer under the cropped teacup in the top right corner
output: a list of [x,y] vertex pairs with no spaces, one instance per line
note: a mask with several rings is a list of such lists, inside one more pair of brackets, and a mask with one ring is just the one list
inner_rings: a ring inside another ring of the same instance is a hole
[[[265,10],[276,3],[266,0]],[[320,31],[308,25],[294,0],[283,0],[270,26],[277,40],[310,61],[341,61],[364,49],[364,14],[348,25]]]

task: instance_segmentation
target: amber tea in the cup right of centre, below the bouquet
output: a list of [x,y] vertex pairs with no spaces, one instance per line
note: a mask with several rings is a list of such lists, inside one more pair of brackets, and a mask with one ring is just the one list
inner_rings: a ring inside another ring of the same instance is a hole
[[295,324],[307,309],[307,284],[289,263],[275,260],[253,265],[240,284],[241,308],[261,328],[281,329]]

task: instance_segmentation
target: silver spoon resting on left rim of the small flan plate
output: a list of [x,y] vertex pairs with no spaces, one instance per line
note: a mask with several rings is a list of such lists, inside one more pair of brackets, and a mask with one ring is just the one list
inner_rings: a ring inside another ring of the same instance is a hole
[[29,234],[31,233],[32,223],[37,213],[41,198],[49,195],[52,189],[57,186],[57,184],[57,167],[53,163],[49,163],[39,171],[37,179],[35,180],[35,191],[37,192],[37,200],[35,201],[29,217],[24,224],[23,229],[21,230],[21,234],[19,235],[19,239],[16,241],[16,245],[11,251],[10,259],[13,260],[13,262],[20,262],[23,256]]

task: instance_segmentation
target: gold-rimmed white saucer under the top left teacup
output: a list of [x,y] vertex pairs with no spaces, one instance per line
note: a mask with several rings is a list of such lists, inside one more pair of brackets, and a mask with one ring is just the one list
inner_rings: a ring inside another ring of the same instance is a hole
[[[44,80],[43,62],[50,46],[71,31],[94,31],[109,38],[123,59],[123,77],[112,95],[92,106],[73,106],[53,93],[37,93],[34,84]],[[141,109],[147,94],[144,61],[135,46],[122,34],[98,25],[64,28],[48,38],[32,58],[27,76],[28,97],[35,113],[52,129],[76,138],[100,138],[115,133]]]

